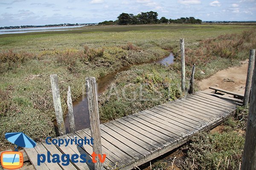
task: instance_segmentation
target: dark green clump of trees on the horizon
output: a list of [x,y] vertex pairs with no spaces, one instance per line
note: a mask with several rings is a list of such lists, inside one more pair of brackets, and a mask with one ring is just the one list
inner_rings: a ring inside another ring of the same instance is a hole
[[154,11],[141,12],[140,14],[119,14],[117,20],[103,21],[99,25],[133,25],[133,24],[157,24],[157,23],[192,23],[201,24],[202,20],[194,17],[181,17],[180,19],[172,20],[166,17],[157,18],[158,14]]

